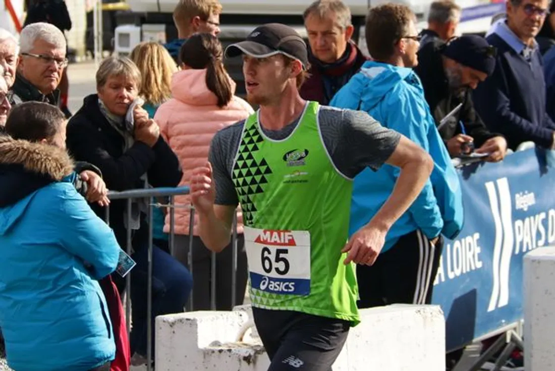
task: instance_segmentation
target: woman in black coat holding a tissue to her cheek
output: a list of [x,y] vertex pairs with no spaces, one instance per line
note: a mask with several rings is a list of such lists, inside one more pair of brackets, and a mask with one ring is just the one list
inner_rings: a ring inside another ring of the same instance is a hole
[[[83,107],[68,123],[66,142],[70,154],[78,161],[97,166],[110,190],[176,187],[183,176],[178,157],[160,136],[158,125],[148,118],[148,113],[138,106],[132,107],[141,81],[137,66],[128,58],[107,58],[100,64],[96,80],[98,94],[86,97]],[[132,114],[128,115],[128,111]],[[92,207],[104,217],[103,208]],[[126,200],[114,200],[109,223],[124,249],[127,230],[132,230],[132,258],[137,266],[131,271],[130,343],[134,359],[143,360],[147,354],[148,201],[133,200],[130,211]],[[153,329],[157,315],[183,312],[191,287],[189,271],[168,252],[154,247],[150,318]],[[154,336],[152,341],[154,344]]]

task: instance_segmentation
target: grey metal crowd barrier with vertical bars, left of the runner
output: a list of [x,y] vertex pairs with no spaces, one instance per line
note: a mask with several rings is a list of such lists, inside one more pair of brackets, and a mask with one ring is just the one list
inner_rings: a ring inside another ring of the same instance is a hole
[[[108,192],[108,198],[113,200],[127,200],[127,225],[131,225],[132,217],[132,203],[133,200],[137,199],[147,199],[148,201],[148,229],[149,229],[149,240],[148,240],[148,278],[147,278],[147,370],[152,370],[152,322],[150,318],[152,317],[152,252],[153,252],[153,209],[154,207],[164,207],[169,209],[170,214],[170,232],[169,232],[169,251],[172,256],[175,252],[175,208],[190,208],[190,219],[189,219],[189,251],[188,251],[188,269],[191,275],[193,275],[193,235],[194,235],[194,218],[195,209],[192,205],[179,205],[175,204],[176,195],[189,194],[189,187],[176,187],[176,188],[146,188],[146,189],[131,189],[124,190],[122,192],[110,191]],[[168,204],[160,204],[158,202],[153,202],[154,198],[158,197],[169,197]],[[110,207],[105,208],[105,222],[110,224]],[[231,248],[232,252],[232,267],[231,267],[231,306],[235,306],[236,297],[236,272],[237,272],[237,215],[235,214],[233,220],[233,235],[231,237]],[[127,243],[125,246],[125,251],[127,254],[132,256],[132,240],[133,240],[133,229],[127,228]],[[123,247],[122,247],[123,248]],[[216,309],[216,254],[211,253],[211,277],[210,277],[210,308],[212,310]],[[131,287],[131,273],[128,273],[125,277],[125,320],[127,322],[127,333],[130,334],[131,331],[131,297],[129,290]],[[191,292],[189,294],[189,301],[185,309],[192,310],[193,308],[193,293],[194,288],[191,287]],[[169,314],[169,313],[168,313]],[[133,354],[132,354],[133,355]]]

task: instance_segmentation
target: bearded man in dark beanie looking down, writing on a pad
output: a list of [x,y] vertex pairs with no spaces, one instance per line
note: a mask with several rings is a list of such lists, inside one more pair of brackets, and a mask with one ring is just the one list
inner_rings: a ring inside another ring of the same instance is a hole
[[486,128],[472,103],[471,89],[493,73],[496,50],[474,35],[443,42],[434,40],[418,51],[415,72],[451,157],[489,153],[486,161],[501,161],[507,142]]

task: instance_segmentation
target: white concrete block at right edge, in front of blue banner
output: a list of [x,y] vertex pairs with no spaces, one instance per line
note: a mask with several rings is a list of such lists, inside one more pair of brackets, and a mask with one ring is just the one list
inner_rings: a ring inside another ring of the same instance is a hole
[[555,247],[524,256],[524,367],[555,370]]

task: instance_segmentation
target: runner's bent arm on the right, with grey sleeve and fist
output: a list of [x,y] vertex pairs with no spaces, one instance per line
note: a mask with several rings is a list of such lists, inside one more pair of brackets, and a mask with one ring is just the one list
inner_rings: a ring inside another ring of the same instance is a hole
[[[341,117],[333,119],[338,114]],[[433,161],[415,143],[381,126],[365,112],[327,111],[326,116],[320,117],[320,129],[332,161],[347,178],[354,178],[366,167],[376,171],[384,163],[401,168],[390,197],[369,223],[351,235],[342,249],[342,252],[348,252],[345,264],[372,265],[384,246],[391,225],[407,210],[426,183]]]

